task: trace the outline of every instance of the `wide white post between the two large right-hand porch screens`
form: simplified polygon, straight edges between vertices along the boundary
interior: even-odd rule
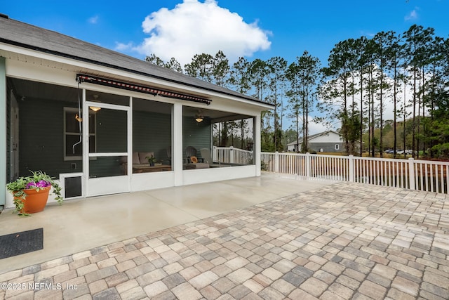
[[[182,178],[182,104],[175,103],[172,110],[172,166],[175,171],[175,186],[183,184]]]

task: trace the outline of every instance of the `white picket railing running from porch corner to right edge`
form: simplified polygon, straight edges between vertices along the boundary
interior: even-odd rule
[[[304,179],[352,181],[448,193],[448,162],[262,152],[261,164],[264,171]]]

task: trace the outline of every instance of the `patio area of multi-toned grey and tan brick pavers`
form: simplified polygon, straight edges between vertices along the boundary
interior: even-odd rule
[[[0,299],[449,299],[449,197],[336,183],[0,284]]]

